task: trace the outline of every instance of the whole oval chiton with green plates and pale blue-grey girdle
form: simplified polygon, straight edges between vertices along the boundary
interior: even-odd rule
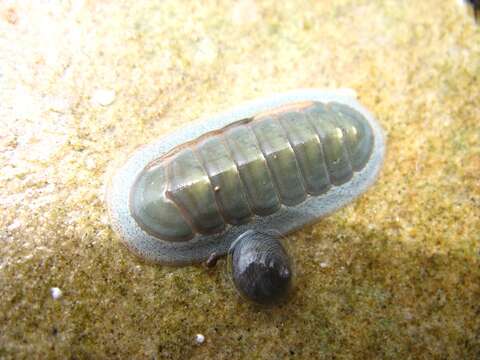
[[[205,261],[245,231],[287,234],[346,205],[375,181],[384,147],[346,92],[247,103],[134,153],[109,186],[112,225],[147,260]]]

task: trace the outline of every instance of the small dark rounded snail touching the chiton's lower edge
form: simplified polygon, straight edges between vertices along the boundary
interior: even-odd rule
[[[285,299],[293,279],[292,261],[273,232],[249,230],[229,251],[231,277],[239,293],[253,302],[271,305]]]

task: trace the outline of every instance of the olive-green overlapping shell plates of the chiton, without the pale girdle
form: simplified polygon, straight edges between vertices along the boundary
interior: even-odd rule
[[[372,149],[372,129],[351,107],[292,104],[172,149],[140,173],[130,210],[161,239],[220,233],[346,183]]]

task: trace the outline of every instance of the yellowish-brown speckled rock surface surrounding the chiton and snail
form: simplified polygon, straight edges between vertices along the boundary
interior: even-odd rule
[[[4,2],[0,15],[0,358],[480,357],[480,28],[456,1]],[[120,245],[103,202],[114,159],[300,87],[355,89],[388,154],[364,197],[289,237],[288,304],[243,302],[224,262],[152,266]]]

